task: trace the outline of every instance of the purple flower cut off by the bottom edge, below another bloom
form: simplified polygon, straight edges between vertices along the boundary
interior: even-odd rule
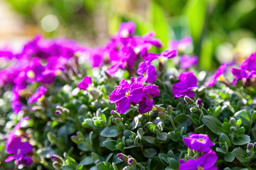
[[[180,170],[218,170],[217,166],[214,166],[214,163],[217,161],[217,154],[209,150],[208,152],[203,153],[202,156],[198,157],[197,160],[189,159],[187,162],[184,162],[180,165]]]

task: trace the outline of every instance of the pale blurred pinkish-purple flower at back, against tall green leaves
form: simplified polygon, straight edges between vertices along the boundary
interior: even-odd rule
[[[193,43],[193,39],[189,36],[184,37],[179,41],[171,41],[169,43],[169,47],[171,49],[178,49],[179,51],[184,51],[187,47],[189,47]]]

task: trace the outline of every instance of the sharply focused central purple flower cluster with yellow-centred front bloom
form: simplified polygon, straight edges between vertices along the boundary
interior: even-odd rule
[[[152,97],[158,96],[160,91],[156,85],[145,86],[137,81],[137,78],[131,77],[129,84],[122,79],[119,86],[109,95],[109,102],[116,103],[118,113],[124,113],[130,108],[130,104],[136,106],[139,103],[139,112],[146,113],[152,110]]]

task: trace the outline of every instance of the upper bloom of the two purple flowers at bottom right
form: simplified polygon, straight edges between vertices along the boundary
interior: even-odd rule
[[[184,143],[187,147],[201,152],[207,152],[215,143],[211,142],[207,134],[190,133],[189,137],[184,137]]]

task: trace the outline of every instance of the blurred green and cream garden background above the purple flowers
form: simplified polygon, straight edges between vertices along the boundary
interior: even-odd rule
[[[154,30],[164,48],[194,39],[199,67],[240,62],[256,51],[255,0],[0,0],[0,49],[19,51],[36,34],[103,46],[121,22]]]

